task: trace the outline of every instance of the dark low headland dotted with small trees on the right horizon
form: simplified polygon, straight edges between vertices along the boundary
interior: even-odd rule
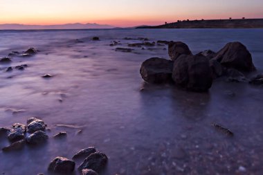
[[[140,26],[137,28],[263,28],[263,19],[183,20],[160,26]]]

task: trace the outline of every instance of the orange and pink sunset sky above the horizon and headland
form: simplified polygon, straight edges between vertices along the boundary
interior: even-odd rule
[[[0,24],[128,27],[183,19],[263,18],[263,0],[0,0]]]

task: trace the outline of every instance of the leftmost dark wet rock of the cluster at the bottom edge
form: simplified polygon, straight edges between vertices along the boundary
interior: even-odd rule
[[[70,174],[75,169],[75,162],[68,158],[56,157],[48,165],[48,170],[60,174]]]

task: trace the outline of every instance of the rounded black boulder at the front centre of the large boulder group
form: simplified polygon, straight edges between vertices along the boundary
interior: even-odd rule
[[[172,79],[190,91],[208,91],[212,86],[209,59],[201,54],[181,55],[174,61]]]

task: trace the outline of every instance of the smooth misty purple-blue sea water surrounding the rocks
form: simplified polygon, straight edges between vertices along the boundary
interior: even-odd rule
[[[91,41],[93,36],[100,41]],[[140,77],[140,64],[149,57],[168,58],[167,46],[133,53],[109,46],[114,40],[122,43],[118,47],[138,42],[124,37],[182,41],[193,53],[239,41],[263,71],[262,29],[0,31],[0,57],[31,46],[40,50],[35,57],[0,65],[28,64],[24,71],[1,69],[0,127],[38,116],[50,128],[42,146],[1,151],[1,174],[50,174],[53,158],[71,158],[90,146],[109,156],[101,174],[262,174],[262,88],[224,80],[215,80],[209,93],[150,86]],[[46,73],[54,77],[45,80]],[[235,136],[216,131],[212,123]],[[53,138],[60,131],[68,136]],[[4,136],[0,141],[1,148],[8,145]]]

